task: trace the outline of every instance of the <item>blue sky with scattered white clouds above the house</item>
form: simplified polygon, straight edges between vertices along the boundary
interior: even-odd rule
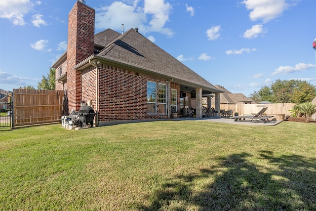
[[[76,0],[0,1],[0,88],[35,88],[67,48]],[[277,79],[316,85],[316,0],[85,0],[95,33],[139,33],[233,93]]]

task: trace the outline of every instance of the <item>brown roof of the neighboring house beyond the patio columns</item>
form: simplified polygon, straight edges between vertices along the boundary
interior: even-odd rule
[[[254,103],[252,99],[246,97],[242,93],[234,94],[221,85],[215,85],[215,87],[225,91],[224,93],[220,93],[220,103],[222,104],[236,104],[237,102]]]

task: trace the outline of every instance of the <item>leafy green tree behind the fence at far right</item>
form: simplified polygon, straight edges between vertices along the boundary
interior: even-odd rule
[[[315,96],[316,86],[301,80],[276,80],[270,86],[263,86],[259,91],[250,94],[250,98],[256,102],[297,104],[312,101]]]

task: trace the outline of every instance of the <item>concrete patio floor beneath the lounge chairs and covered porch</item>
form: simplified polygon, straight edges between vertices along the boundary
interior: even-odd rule
[[[173,121],[208,121],[208,122],[217,122],[217,123],[227,123],[227,124],[236,124],[236,125],[249,125],[249,126],[276,126],[282,121],[271,121],[269,123],[257,122],[256,120],[242,120],[235,122],[234,119],[229,118],[217,118],[217,117],[204,117],[204,118],[178,118],[171,119]]]

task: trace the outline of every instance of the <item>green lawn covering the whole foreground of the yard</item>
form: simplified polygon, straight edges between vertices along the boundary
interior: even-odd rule
[[[316,210],[316,125],[0,131],[0,210]]]

